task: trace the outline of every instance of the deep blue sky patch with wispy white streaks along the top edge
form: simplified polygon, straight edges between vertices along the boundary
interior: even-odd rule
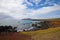
[[[43,7],[54,6],[55,4],[60,5],[59,0],[25,0],[24,4],[28,9],[39,9]]]

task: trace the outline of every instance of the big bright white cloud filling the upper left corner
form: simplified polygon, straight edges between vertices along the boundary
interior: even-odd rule
[[[23,0],[2,0],[0,1],[0,12],[4,12],[11,16],[20,16],[26,13],[25,6],[22,5]]]

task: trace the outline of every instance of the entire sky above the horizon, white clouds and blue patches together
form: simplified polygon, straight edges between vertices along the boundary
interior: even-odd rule
[[[60,18],[60,0],[0,0],[0,20],[11,17]]]

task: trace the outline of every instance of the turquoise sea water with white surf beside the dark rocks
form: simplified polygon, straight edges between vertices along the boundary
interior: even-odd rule
[[[32,24],[39,23],[40,21],[32,21],[32,20],[21,20],[19,22],[18,30],[24,30],[24,29],[33,29]]]

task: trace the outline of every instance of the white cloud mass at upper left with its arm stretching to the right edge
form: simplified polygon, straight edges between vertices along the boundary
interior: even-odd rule
[[[24,0],[0,0],[0,12],[4,12],[6,15],[10,15],[16,19],[22,18],[36,18],[38,14],[46,14],[51,11],[60,10],[59,5],[43,7],[38,10],[26,9],[25,5],[22,5]]]

